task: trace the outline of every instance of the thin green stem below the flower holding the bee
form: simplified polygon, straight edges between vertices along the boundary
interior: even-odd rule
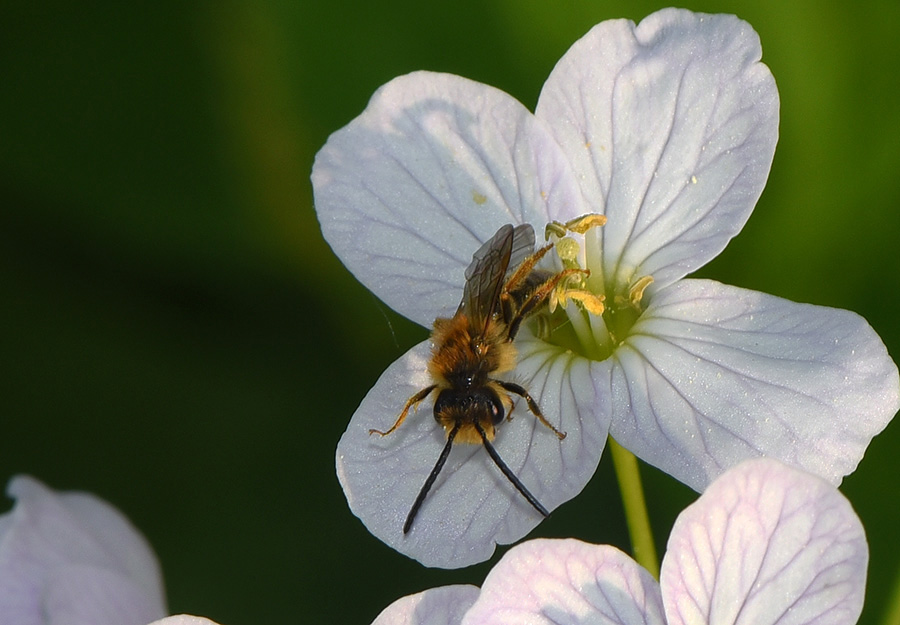
[[[659,559],[653,543],[653,532],[650,531],[650,517],[644,501],[644,487],[641,486],[637,458],[612,437],[609,438],[607,448],[612,453],[616,477],[619,479],[619,490],[622,492],[622,505],[625,508],[634,559],[650,571],[653,577],[659,579]]]

